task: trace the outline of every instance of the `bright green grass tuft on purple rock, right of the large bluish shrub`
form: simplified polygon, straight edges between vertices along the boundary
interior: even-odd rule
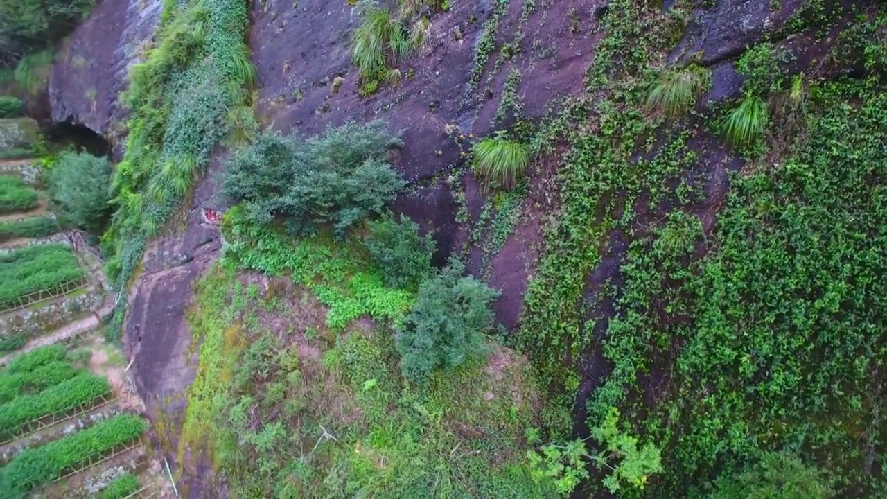
[[[514,187],[517,178],[527,170],[530,153],[520,142],[496,132],[471,147],[475,173],[506,189]]]

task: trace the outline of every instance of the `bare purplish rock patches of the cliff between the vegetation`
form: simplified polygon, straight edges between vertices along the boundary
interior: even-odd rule
[[[120,130],[115,123],[121,123],[125,112],[118,97],[127,86],[128,68],[149,43],[160,8],[156,0],[104,0],[98,5],[59,52],[50,87],[53,120],[72,120],[110,136]],[[853,60],[844,61],[843,67],[822,66],[822,54],[837,33],[819,42],[808,36],[804,22],[792,21],[807,15],[804,8],[800,0],[783,0],[778,9],[773,9],[770,0],[718,1],[699,8],[689,16],[686,32],[670,59],[692,59],[711,68],[708,104],[737,95],[742,77],[736,73],[736,59],[747,45],[764,39],[795,56],[789,62],[792,72],[809,67],[823,74],[854,71]],[[534,165],[534,189],[524,201],[523,217],[501,249],[484,256],[483,240],[471,235],[478,224],[487,223],[482,215],[483,189],[470,173],[448,178],[452,169],[463,166],[462,149],[453,135],[480,137],[496,130],[498,110],[506,97],[517,99],[523,116],[538,118],[550,104],[581,91],[585,68],[600,39],[595,16],[602,9],[606,9],[602,0],[539,2],[532,10],[523,10],[518,2],[453,2],[450,12],[432,19],[423,48],[400,66],[401,83],[365,98],[358,95],[357,69],[350,63],[349,33],[357,20],[347,3],[253,2],[249,42],[259,76],[257,111],[264,123],[305,136],[329,125],[376,118],[386,120],[392,130],[402,130],[405,147],[396,166],[411,183],[411,190],[396,202],[396,209],[425,229],[436,230],[441,248],[438,262],[471,243],[469,268],[502,289],[498,317],[514,328],[533,273],[544,218],[557,209],[558,190],[552,178],[560,165],[559,155],[546,155]],[[498,19],[495,27],[488,23],[494,16]],[[484,25],[494,33],[496,48],[478,60]],[[473,73],[478,76],[473,78]],[[334,91],[338,77],[343,83]],[[697,168],[687,175],[703,182],[707,193],[693,210],[710,230],[714,210],[726,194],[726,173],[741,168],[742,161],[714,137],[690,146],[701,154]],[[213,170],[219,172],[218,158],[214,165]],[[220,246],[216,226],[203,216],[205,208],[220,208],[212,201],[215,190],[213,175],[200,182],[184,231],[153,243],[144,272],[130,289],[125,343],[130,358],[135,358],[137,386],[153,421],[169,423],[159,433],[167,440],[165,448],[173,461],[177,456],[169,450],[177,448],[174,426],[184,407],[180,395],[192,380],[194,368],[185,309],[192,283],[216,258]],[[586,301],[593,301],[601,282],[609,279],[618,284],[618,266],[628,242],[620,234],[612,234],[610,242],[601,265],[588,276]],[[596,313],[589,320],[605,328],[612,310],[604,306]],[[600,352],[586,352],[582,364],[585,375],[576,417],[580,422],[585,421],[581,414],[585,396],[606,372]],[[203,470],[199,460],[186,456],[185,461],[180,463],[185,475],[190,475],[185,478],[196,479]],[[209,496],[199,490],[192,487],[193,494]]]

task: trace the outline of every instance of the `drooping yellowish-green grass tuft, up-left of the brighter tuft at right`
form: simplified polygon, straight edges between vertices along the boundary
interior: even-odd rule
[[[648,110],[677,118],[693,107],[699,95],[711,86],[711,71],[691,65],[680,70],[665,70],[650,89]]]

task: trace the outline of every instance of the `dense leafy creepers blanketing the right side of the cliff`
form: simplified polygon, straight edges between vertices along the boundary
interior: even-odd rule
[[[723,484],[788,479],[798,466],[820,468],[792,477],[821,480],[816,496],[877,494],[887,430],[878,401],[887,290],[875,277],[885,270],[883,14],[858,17],[835,49],[867,54],[864,79],[789,80],[781,55],[760,47],[742,58],[749,78],[727,104],[733,124],[717,113],[666,122],[678,113],[645,115],[645,82],[662,81],[681,6],[663,15],[610,4],[587,75],[593,99],[554,123],[571,145],[561,219],[546,233],[518,337],[552,390],[548,428],[566,436],[581,380],[600,376],[583,373],[582,360],[598,350],[608,368],[576,423],[595,428],[619,408],[624,430],[663,452],[663,472],[626,495],[750,490]],[[674,102],[687,112],[684,97]],[[771,103],[763,116],[737,111],[752,99]],[[586,119],[581,128],[595,133],[562,126]],[[697,123],[719,120],[710,129],[750,161],[704,234],[699,146],[689,145],[711,140]],[[621,266],[585,295],[614,234],[628,242]],[[758,463],[786,466],[785,476]]]

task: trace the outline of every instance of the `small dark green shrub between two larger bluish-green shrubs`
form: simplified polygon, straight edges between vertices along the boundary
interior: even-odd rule
[[[431,274],[431,257],[436,244],[419,234],[419,225],[409,218],[396,222],[390,215],[366,224],[364,246],[381,269],[385,284],[392,288],[417,289]]]

